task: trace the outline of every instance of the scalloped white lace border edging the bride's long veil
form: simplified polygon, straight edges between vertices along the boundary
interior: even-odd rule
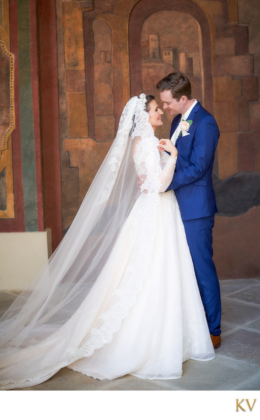
[[[92,328],[89,331],[90,338],[87,339],[81,347],[68,348],[66,350],[70,355],[67,360],[63,360],[54,366],[48,367],[47,369],[26,378],[1,381],[3,386],[0,389],[2,390],[16,388],[18,383],[21,384],[27,381],[39,381],[41,378],[44,378],[54,371],[60,370],[62,367],[71,365],[73,362],[82,357],[90,357],[96,349],[100,349],[105,344],[110,343],[113,339],[113,335],[120,329],[123,319],[128,316],[130,308],[136,302],[137,294],[142,290],[143,282],[147,277],[148,267],[151,262],[152,249],[154,247],[154,236],[158,214],[157,206],[160,201],[160,182],[158,181],[157,176],[158,173],[160,173],[161,166],[160,154],[156,144],[158,139],[154,135],[152,126],[148,123],[149,115],[146,111],[144,111],[140,100],[137,101],[137,103],[136,101],[133,101],[131,106],[133,108],[132,112],[134,112],[135,109],[135,114],[139,117],[137,118],[137,124],[132,133],[132,137],[145,135],[144,150],[146,150],[147,153],[147,147],[149,147],[149,154],[153,155],[153,161],[151,163],[152,168],[150,168],[150,172],[148,168],[147,179],[145,182],[145,189],[148,189],[147,212],[144,213],[143,224],[140,228],[139,244],[137,244],[138,258],[134,267],[128,267],[129,271],[131,271],[131,277],[127,281],[126,286],[121,289],[114,290],[113,295],[118,299],[116,299],[116,302],[110,304],[110,308],[105,313],[100,315],[100,326]],[[128,115],[131,115],[132,112],[129,112]],[[132,118],[128,118],[128,121],[126,121],[125,118],[128,117],[126,117],[123,113],[121,119],[123,119],[126,123],[122,124],[122,131],[118,131],[118,135],[116,137],[117,140],[121,139],[122,142],[127,142],[128,133],[132,127]],[[122,145],[119,141],[118,146],[114,149],[113,155],[109,161],[114,176],[110,181],[109,188],[104,192],[104,199],[108,198],[113,189],[118,168],[120,167],[123,158],[124,148],[125,145]]]

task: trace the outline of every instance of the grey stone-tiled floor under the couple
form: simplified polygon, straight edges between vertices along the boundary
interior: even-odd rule
[[[221,347],[210,362],[185,362],[182,378],[149,381],[126,375],[113,381],[99,381],[65,367],[48,381],[20,390],[259,390],[260,279],[222,280],[220,286]],[[19,291],[0,293],[0,315],[18,294]]]

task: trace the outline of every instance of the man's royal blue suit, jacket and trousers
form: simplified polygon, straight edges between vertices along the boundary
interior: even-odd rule
[[[180,120],[181,114],[173,119],[170,138]],[[212,228],[218,209],[211,176],[219,131],[213,116],[199,102],[187,120],[192,120],[189,135],[176,140],[178,158],[167,191],[173,189],[176,194],[209,330],[218,336],[221,300],[212,260]]]

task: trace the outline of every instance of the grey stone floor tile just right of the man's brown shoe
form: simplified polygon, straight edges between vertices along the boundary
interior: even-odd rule
[[[222,337],[218,352],[222,356],[255,363],[260,370],[260,333],[239,328]]]

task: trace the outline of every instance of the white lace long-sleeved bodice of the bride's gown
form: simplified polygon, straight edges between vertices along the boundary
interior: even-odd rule
[[[145,178],[141,192],[165,192],[173,178],[177,157],[165,153],[161,161],[157,140],[156,137],[137,137],[134,142],[133,158],[137,175]]]

